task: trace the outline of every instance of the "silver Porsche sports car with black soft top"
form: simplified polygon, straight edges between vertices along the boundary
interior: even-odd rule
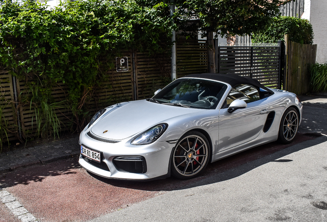
[[[80,135],[79,164],[106,178],[193,178],[209,162],[292,142],[301,116],[301,102],[288,91],[237,75],[189,75],[151,99],[96,113]]]

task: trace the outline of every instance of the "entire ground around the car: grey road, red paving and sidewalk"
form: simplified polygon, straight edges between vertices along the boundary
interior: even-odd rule
[[[78,168],[77,136],[3,153],[0,221],[327,221],[327,97],[300,100],[297,144],[277,152],[266,144],[189,181],[101,180]],[[242,162],[244,155],[255,158]]]

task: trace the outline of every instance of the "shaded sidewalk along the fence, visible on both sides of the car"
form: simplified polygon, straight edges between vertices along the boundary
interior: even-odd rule
[[[300,96],[299,99],[304,105],[299,133],[327,135],[327,94]],[[70,139],[4,152],[0,154],[0,174],[79,155],[78,140],[79,135],[76,135]]]

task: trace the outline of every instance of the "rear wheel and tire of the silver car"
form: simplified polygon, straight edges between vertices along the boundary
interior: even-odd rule
[[[299,114],[294,107],[286,109],[280,121],[278,141],[288,144],[294,140],[299,128]]]

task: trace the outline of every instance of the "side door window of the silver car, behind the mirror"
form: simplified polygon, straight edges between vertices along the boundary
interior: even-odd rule
[[[244,100],[246,103],[250,103],[259,100],[260,94],[258,89],[254,86],[247,84],[236,85],[230,91],[224,104],[224,108],[227,108],[232,101],[237,99]]]

